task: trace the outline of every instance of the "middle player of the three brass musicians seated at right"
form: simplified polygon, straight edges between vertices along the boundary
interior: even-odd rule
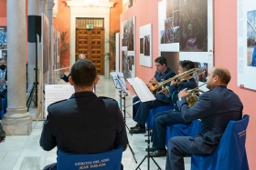
[[[195,68],[193,62],[184,60],[179,62],[179,75],[185,73],[186,71]],[[197,87],[197,82],[192,74],[187,74],[182,76],[183,81],[180,84],[177,84],[177,81],[172,81],[171,85],[168,87],[168,91],[165,90],[163,93],[168,97],[172,98],[174,104],[174,110],[165,111],[163,113],[158,113],[155,115],[154,119],[154,127],[153,127],[153,134],[152,134],[152,142],[153,146],[150,147],[150,155],[154,157],[165,156],[166,149],[165,149],[165,138],[166,138],[166,128],[169,125],[176,125],[176,124],[185,124],[190,125],[191,122],[186,122],[180,115],[179,110],[176,107],[176,100],[178,99],[177,94],[183,89],[193,89]],[[146,149],[147,150],[147,149]]]

